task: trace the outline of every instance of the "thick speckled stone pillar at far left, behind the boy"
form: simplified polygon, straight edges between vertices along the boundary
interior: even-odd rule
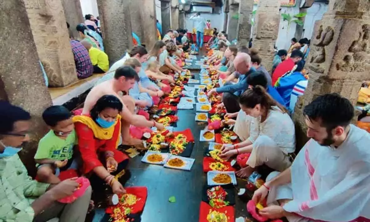
[[[1,1],[0,10],[0,91],[1,97],[18,105],[33,117],[31,142],[23,147],[20,157],[30,175],[36,175],[33,156],[38,140],[47,127],[42,112],[52,105],[38,62],[36,45],[23,0]]]

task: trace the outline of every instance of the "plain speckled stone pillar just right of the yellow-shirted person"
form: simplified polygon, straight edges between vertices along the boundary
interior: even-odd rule
[[[98,0],[104,49],[110,64],[132,48],[132,29],[127,0]]]

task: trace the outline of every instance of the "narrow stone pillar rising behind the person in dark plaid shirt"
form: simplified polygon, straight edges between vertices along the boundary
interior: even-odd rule
[[[80,37],[76,26],[84,23],[84,16],[82,15],[80,0],[63,0],[63,9],[65,20],[70,24],[70,30],[74,38]]]

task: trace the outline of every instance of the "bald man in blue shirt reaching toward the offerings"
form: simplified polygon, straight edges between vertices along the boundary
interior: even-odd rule
[[[238,83],[226,83],[223,87],[213,88],[208,92],[208,96],[223,92],[222,101],[228,113],[234,113],[240,110],[238,98],[248,89],[247,76],[256,71],[256,69],[252,67],[250,56],[246,53],[238,53],[233,63],[235,71],[240,73]]]

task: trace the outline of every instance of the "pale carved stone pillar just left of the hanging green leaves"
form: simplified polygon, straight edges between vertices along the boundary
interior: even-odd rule
[[[274,44],[279,33],[280,0],[259,1],[253,31],[253,48],[259,51],[262,64],[270,72]]]

